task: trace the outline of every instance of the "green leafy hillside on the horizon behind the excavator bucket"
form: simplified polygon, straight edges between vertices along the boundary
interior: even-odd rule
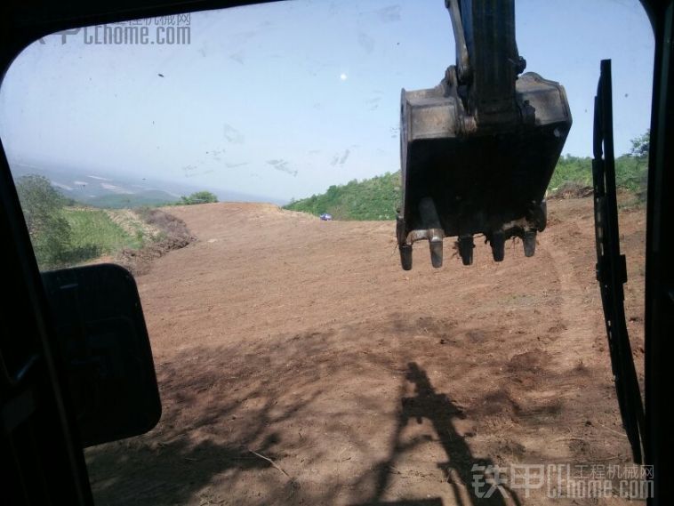
[[[644,197],[647,160],[623,155],[615,159],[618,187]],[[567,155],[559,159],[548,188],[550,195],[568,186],[592,186],[592,159]],[[325,193],[293,201],[285,209],[319,215],[331,213],[335,220],[392,220],[400,205],[400,173],[385,173],[363,181],[331,186]]]

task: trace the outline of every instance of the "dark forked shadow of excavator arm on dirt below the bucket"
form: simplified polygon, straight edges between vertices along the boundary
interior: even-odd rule
[[[440,445],[447,456],[447,462],[439,462],[449,486],[452,487],[454,503],[459,506],[520,506],[518,495],[507,486],[491,486],[478,472],[493,469],[491,459],[475,457],[466,442],[455,428],[455,421],[464,418],[461,408],[456,406],[445,394],[437,393],[430,383],[428,374],[416,363],[407,365],[405,380],[412,383],[413,397],[402,398],[402,409],[398,415],[397,427],[392,439],[389,457],[379,462],[374,469],[374,491],[370,501],[359,502],[352,506],[440,506],[445,504],[442,498],[383,500],[389,488],[391,469],[398,457],[410,448],[402,441],[402,432],[411,421],[421,423],[428,420],[437,433]],[[490,478],[490,477],[487,477]],[[482,479],[481,486],[474,486],[476,479]],[[488,479],[486,481],[489,481]],[[493,482],[492,482],[493,483]],[[499,484],[497,484],[499,485]]]

